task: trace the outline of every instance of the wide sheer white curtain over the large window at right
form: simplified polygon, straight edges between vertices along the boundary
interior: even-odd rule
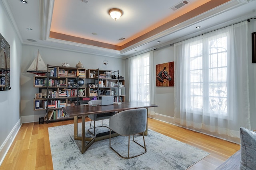
[[[174,45],[174,121],[239,143],[250,128],[247,21]]]

